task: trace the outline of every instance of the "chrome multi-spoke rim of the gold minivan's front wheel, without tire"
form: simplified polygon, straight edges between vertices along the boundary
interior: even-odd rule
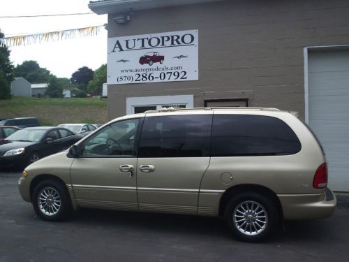
[[[44,187],[38,194],[38,207],[43,214],[53,216],[61,209],[61,196],[52,187]]]

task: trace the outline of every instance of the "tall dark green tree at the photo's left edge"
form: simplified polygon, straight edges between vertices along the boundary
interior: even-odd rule
[[[0,38],[3,38],[0,31]],[[0,46],[0,99],[10,99],[10,82],[13,80],[13,65],[10,62],[10,51],[6,46]]]

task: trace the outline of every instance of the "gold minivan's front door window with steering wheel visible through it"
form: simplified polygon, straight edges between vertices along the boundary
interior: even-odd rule
[[[135,137],[140,119],[126,119],[105,126],[84,141],[81,157],[135,157]]]

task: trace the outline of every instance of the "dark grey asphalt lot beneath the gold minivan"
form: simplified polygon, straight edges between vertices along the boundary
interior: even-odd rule
[[[238,242],[210,217],[80,210],[68,221],[36,217],[0,172],[0,261],[348,261],[349,197],[334,216],[285,224],[271,240]]]

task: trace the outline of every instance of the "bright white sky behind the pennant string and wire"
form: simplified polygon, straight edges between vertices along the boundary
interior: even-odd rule
[[[0,0],[0,29],[6,36],[47,33],[67,29],[98,26],[107,23],[107,15],[71,15],[57,17],[1,18],[19,15],[56,15],[90,13],[89,0]],[[42,42],[11,47],[13,65],[26,60],[38,61],[59,78],[70,78],[82,66],[93,70],[107,63],[107,31],[97,36],[57,42]]]

